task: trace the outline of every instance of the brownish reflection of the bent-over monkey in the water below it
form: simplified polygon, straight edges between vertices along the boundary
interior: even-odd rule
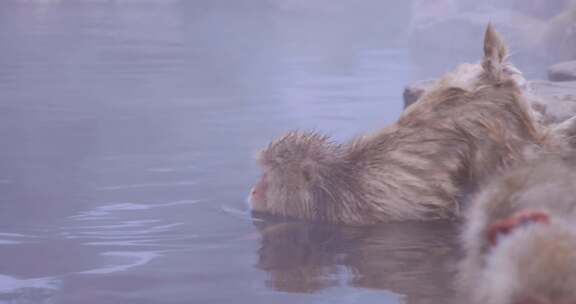
[[[452,293],[455,223],[254,224],[261,234],[257,267],[276,290],[312,293],[350,285],[404,294],[407,303],[446,303]]]

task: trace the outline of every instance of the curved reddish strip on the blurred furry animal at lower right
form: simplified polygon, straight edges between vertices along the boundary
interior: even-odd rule
[[[548,224],[548,212],[536,209],[526,209],[503,220],[496,221],[488,228],[487,238],[490,244],[496,245],[498,238],[510,234],[515,229],[529,224]]]

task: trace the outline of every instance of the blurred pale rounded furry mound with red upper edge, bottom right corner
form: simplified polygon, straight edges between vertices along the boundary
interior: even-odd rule
[[[576,303],[573,224],[524,210],[491,225],[487,236],[493,247],[481,269],[478,303]]]

